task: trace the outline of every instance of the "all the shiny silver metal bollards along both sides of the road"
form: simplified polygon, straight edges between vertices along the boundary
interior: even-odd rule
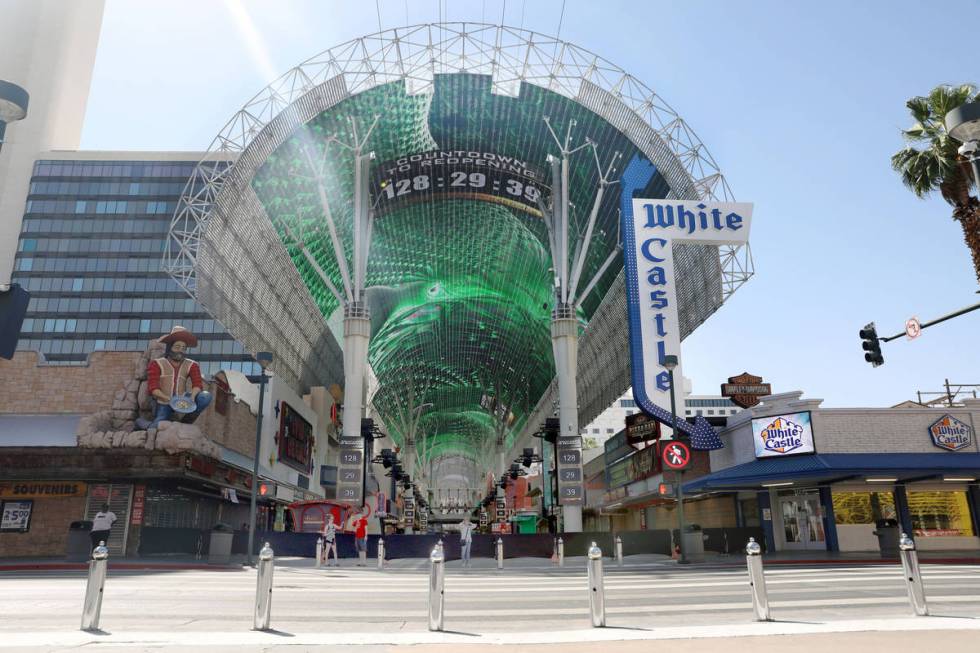
[[[558,564],[564,564],[564,542],[558,538]],[[497,569],[504,568],[504,542],[497,538]],[[925,590],[922,586],[922,573],[919,569],[919,559],[915,551],[915,543],[902,533],[899,541],[902,559],[902,569],[905,575],[909,602],[916,615],[926,616],[929,608],[926,605]],[[317,567],[320,566],[322,541],[317,540]],[[749,572],[749,587],[752,593],[752,612],[756,621],[772,621],[769,611],[769,597],[766,593],[766,578],[762,567],[762,547],[755,538],[750,537],[745,546],[745,561]],[[109,550],[105,542],[92,552],[89,561],[88,582],[85,588],[85,603],[82,607],[82,630],[98,631],[99,617],[102,612],[102,596],[105,589],[106,566]],[[622,565],[622,540],[616,538],[616,560]],[[440,541],[432,549],[429,556],[429,630],[441,631],[444,623],[445,608],[445,561],[446,554]],[[384,540],[378,541],[378,569],[384,569],[385,548]],[[266,542],[259,551],[258,574],[255,588],[255,630],[269,630],[272,620],[272,573],[275,559],[272,547]],[[602,576],[602,550],[593,542],[588,550],[588,580],[589,580],[589,614],[594,628],[606,625],[606,600]]]

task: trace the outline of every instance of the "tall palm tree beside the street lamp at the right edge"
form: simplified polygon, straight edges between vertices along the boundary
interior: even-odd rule
[[[946,133],[943,122],[949,111],[977,101],[980,101],[980,94],[977,94],[976,86],[962,84],[937,86],[929,95],[906,102],[915,124],[902,130],[909,144],[892,156],[892,168],[917,197],[938,190],[953,207],[953,219],[963,226],[963,238],[970,248],[974,271],[980,282],[980,201],[970,196],[970,189],[977,181],[969,161],[956,151],[959,141]]]

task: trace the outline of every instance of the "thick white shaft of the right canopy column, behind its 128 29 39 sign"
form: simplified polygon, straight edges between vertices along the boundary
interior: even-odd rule
[[[560,436],[578,435],[578,321],[574,307],[559,306],[551,321],[551,344],[555,354],[555,370],[558,375],[558,418],[561,421]],[[559,497],[559,501],[560,501]],[[582,506],[562,506],[562,519],[566,533],[582,532]]]

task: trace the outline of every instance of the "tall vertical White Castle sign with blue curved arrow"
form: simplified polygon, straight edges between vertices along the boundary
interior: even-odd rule
[[[627,165],[621,179],[623,254],[630,325],[630,362],[633,397],[637,405],[669,427],[670,374],[665,357],[680,358],[681,325],[677,311],[677,279],[673,246],[743,245],[749,239],[752,205],[698,200],[634,199],[646,187],[656,168],[639,155]],[[682,368],[673,370],[682,379]],[[676,392],[677,411],[684,414],[683,393]],[[695,449],[719,449],[717,433],[703,417],[678,430]],[[674,436],[676,437],[676,436]]]

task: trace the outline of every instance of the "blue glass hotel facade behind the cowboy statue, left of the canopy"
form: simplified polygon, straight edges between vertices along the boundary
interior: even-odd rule
[[[201,371],[257,374],[220,324],[161,269],[170,219],[195,161],[38,161],[13,280],[31,293],[19,349],[49,364],[142,351],[180,324]]]

